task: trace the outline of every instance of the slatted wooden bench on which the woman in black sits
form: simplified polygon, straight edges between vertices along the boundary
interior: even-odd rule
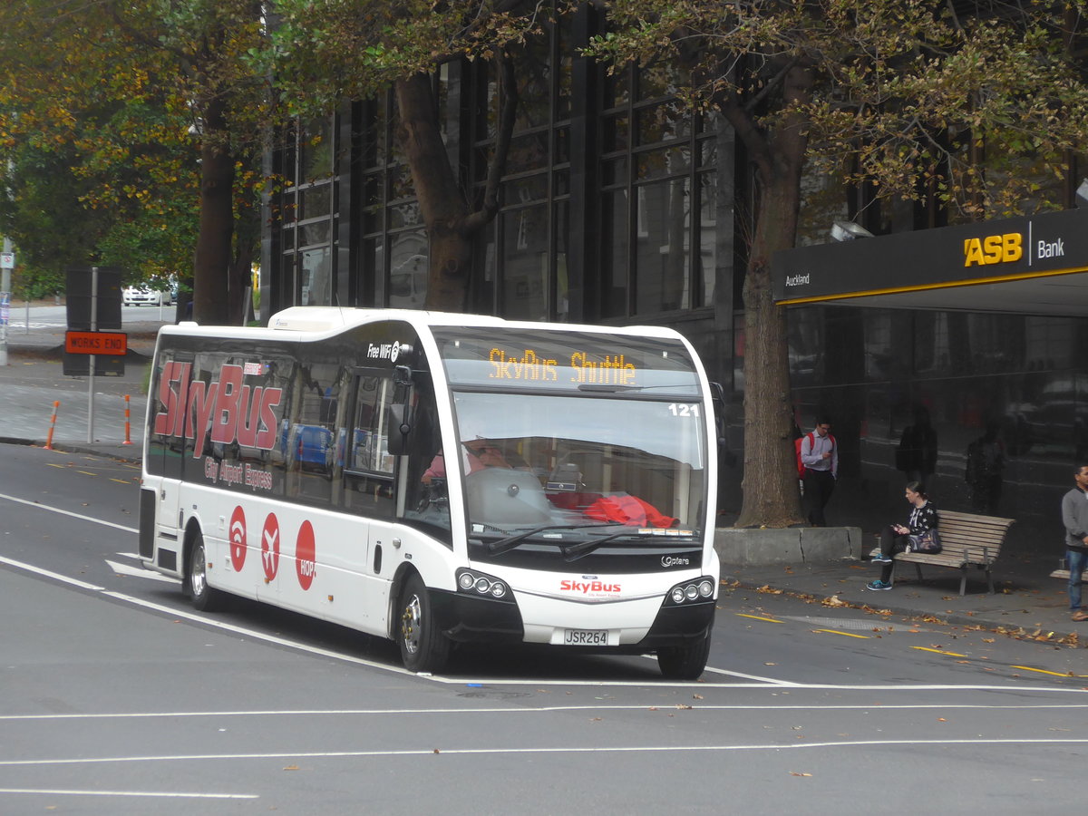
[[[892,562],[891,583],[895,583],[895,564],[910,562],[918,571],[922,580],[922,565],[934,567],[950,567],[960,570],[960,594],[967,589],[967,569],[976,567],[986,571],[986,583],[992,595],[993,562],[1001,555],[1001,545],[1009,534],[1009,528],[1015,519],[1001,519],[997,516],[976,516],[972,512],[954,512],[952,510],[937,511],[937,532],[941,539],[941,552],[932,553],[899,553]]]

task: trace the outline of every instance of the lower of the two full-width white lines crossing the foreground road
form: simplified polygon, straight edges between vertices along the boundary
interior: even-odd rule
[[[512,754],[638,754],[638,753],[693,753],[693,752],[726,752],[726,751],[811,751],[813,749],[844,747],[889,747],[893,745],[1083,745],[1088,738],[1040,738],[1040,739],[973,739],[973,740],[842,740],[841,742],[770,742],[734,745],[598,745],[598,746],[561,746],[561,747],[483,747],[456,749],[441,745],[428,749],[405,749],[399,751],[275,751],[252,754],[159,754],[148,756],[99,756],[74,757],[70,759],[0,759],[0,767],[41,766],[41,765],[106,765],[120,763],[159,763],[159,762],[223,762],[224,759],[335,759],[343,757],[374,756],[431,756],[431,755],[512,755]]]

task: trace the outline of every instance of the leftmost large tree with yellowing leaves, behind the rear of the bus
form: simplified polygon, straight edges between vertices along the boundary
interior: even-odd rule
[[[188,244],[174,271],[191,270],[194,317],[207,323],[240,319],[258,246],[260,139],[273,115],[250,59],[261,12],[254,0],[0,8],[0,146],[71,151],[72,173],[94,182],[81,201],[118,215],[92,255],[147,250],[173,265]]]

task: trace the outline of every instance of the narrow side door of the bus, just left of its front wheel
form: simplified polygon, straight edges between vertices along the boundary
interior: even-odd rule
[[[388,449],[390,409],[396,391],[394,372],[357,369],[345,429],[343,507],[359,519],[348,545],[350,569],[360,578],[360,613],[379,626],[397,566],[393,542],[396,458]]]

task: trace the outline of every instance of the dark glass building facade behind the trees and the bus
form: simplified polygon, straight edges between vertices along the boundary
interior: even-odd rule
[[[598,30],[586,4],[519,53],[520,89],[496,217],[479,235],[468,309],[511,319],[672,326],[732,394],[729,445],[742,440],[744,157],[719,116],[677,98],[675,65],[608,75],[577,49]],[[442,135],[469,200],[487,178],[503,86],[493,64],[433,76]],[[267,171],[262,311],[292,305],[422,308],[430,248],[391,92],[299,124]],[[1061,191],[1055,191],[1061,196]],[[828,240],[866,202],[805,180],[799,244]],[[939,212],[865,207],[874,232],[947,223]],[[939,504],[969,510],[966,449],[996,429],[1004,455],[999,515],[1051,517],[1088,457],[1088,321],[1075,318],[793,307],[796,419],[830,411],[843,487],[901,515],[897,447],[918,418],[936,432]],[[721,471],[721,507],[740,506],[741,466]]]

